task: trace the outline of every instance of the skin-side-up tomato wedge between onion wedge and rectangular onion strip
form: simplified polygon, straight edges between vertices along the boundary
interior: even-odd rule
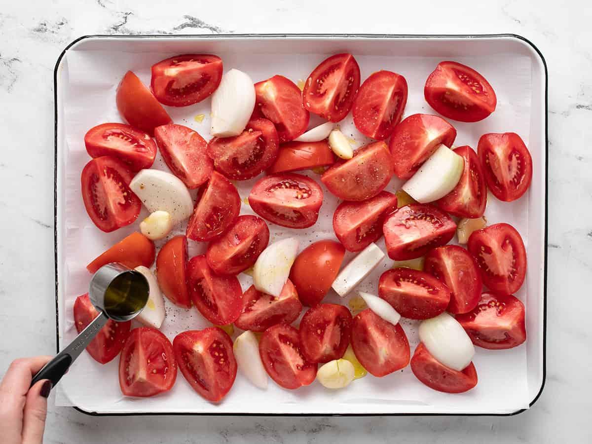
[[[306,247],[294,260],[290,280],[304,305],[314,307],[323,300],[345,256],[345,248],[334,240],[319,240]]]

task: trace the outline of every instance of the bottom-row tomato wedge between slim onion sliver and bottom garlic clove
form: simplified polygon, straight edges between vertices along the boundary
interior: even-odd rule
[[[295,389],[309,385],[317,376],[317,365],[301,352],[298,330],[276,324],[261,336],[259,355],[268,375],[281,387]]]

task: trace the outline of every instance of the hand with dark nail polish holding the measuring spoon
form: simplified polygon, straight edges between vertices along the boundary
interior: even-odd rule
[[[2,444],[43,442],[47,397],[52,382],[43,379],[31,385],[33,376],[52,356],[35,356],[12,361],[0,382],[0,436]]]

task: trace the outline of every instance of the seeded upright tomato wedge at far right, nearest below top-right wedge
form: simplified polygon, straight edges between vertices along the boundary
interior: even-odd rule
[[[477,153],[495,197],[512,202],[525,194],[532,181],[532,157],[518,134],[483,134]]]

